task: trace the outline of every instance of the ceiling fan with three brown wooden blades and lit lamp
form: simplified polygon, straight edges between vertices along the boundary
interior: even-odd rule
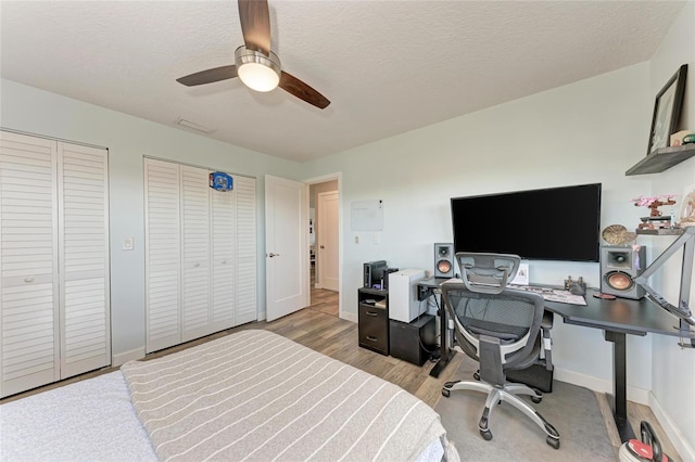
[[[176,81],[187,87],[239,77],[255,91],[280,87],[296,98],[325,108],[330,101],[280,67],[280,59],[270,51],[270,14],[267,0],[238,0],[244,44],[235,51],[235,64],[201,70]]]

